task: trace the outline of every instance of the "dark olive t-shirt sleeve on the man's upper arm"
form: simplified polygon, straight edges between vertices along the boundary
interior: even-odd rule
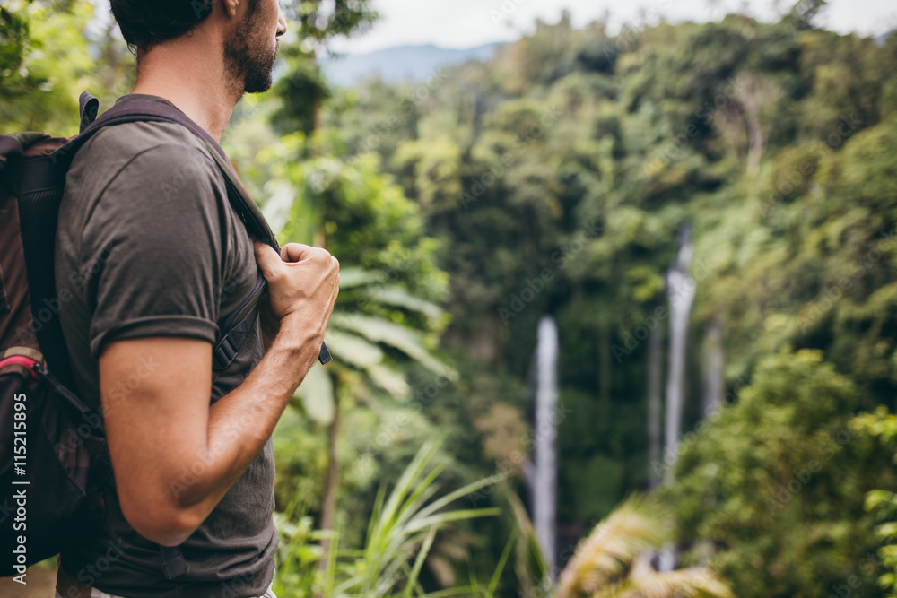
[[[95,358],[126,339],[214,342],[226,204],[215,168],[198,148],[159,145],[138,153],[100,194],[81,251]]]

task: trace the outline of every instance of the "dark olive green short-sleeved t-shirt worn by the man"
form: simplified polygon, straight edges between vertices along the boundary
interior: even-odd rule
[[[145,95],[118,101],[135,99],[165,101]],[[218,323],[257,280],[252,242],[213,157],[187,128],[158,122],[109,126],[75,156],[59,212],[55,267],[77,389],[93,407],[100,405],[98,360],[109,342],[178,336],[214,343]],[[215,380],[210,404],[239,386],[262,352],[256,325]],[[126,383],[104,389],[104,408],[115,409],[152,376],[165,373],[152,362],[139,364]],[[187,487],[203,466],[197,459],[196,471],[185,469],[171,481],[172,491]],[[162,572],[159,546],[122,516],[114,478],[104,500],[100,527],[62,553],[62,568],[88,585],[126,598],[245,598],[265,594],[271,583],[277,531],[270,439],[181,545],[188,571],[174,580]]]

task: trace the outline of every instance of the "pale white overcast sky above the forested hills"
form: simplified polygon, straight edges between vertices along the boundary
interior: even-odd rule
[[[390,46],[436,44],[443,48],[471,48],[492,41],[518,39],[532,30],[536,18],[556,22],[563,8],[577,26],[609,16],[610,30],[624,22],[655,24],[654,15],[669,21],[714,21],[744,7],[762,20],[773,20],[793,0],[374,0],[382,18],[369,32],[334,45],[356,54]],[[897,29],[895,0],[830,0],[818,23],[827,29],[880,35]],[[653,11],[653,12],[652,12]],[[647,14],[646,19],[642,14]]]

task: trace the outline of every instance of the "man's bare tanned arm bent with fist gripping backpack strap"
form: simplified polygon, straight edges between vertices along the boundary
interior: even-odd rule
[[[322,249],[295,244],[283,247],[282,256],[257,245],[257,260],[279,331],[246,380],[211,407],[209,342],[132,339],[111,342],[100,355],[119,503],[128,523],[152,542],[177,545],[202,524],[271,436],[318,357],[339,264]],[[126,384],[142,363],[155,367],[134,392],[107,391]]]

